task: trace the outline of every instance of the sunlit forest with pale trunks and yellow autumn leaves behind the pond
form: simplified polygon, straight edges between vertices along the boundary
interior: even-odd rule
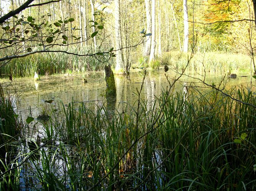
[[[23,44],[16,44],[15,50],[12,50],[9,55],[45,50],[48,46],[51,50],[62,48],[61,50],[79,55],[98,53],[97,55],[102,56],[99,52],[109,52],[113,47],[114,50],[121,49],[115,52],[116,68],[122,68],[123,73],[129,73],[131,65],[142,66],[147,63],[148,58],[159,60],[160,63],[157,63],[157,66],[165,65],[165,61],[173,57],[169,55],[165,58],[170,52],[191,52],[192,47],[193,52],[200,53],[251,55],[255,41],[253,3],[250,0],[62,0],[53,3],[46,2],[48,1],[34,1],[33,4],[43,5],[30,6],[21,11],[16,16],[17,18],[11,18],[8,24],[2,25],[1,43],[5,51],[10,44],[12,49],[15,47],[12,44],[13,40],[17,41],[22,37],[25,39],[20,40]],[[1,16],[3,16],[8,11],[21,6],[24,1],[1,0],[0,3]],[[18,19],[22,19],[22,22],[18,23]],[[20,24],[18,30],[17,23]],[[44,27],[41,27],[42,23]],[[28,24],[30,24],[30,29]],[[35,28],[34,24],[40,26],[40,29],[33,31],[31,26]],[[6,28],[7,25],[10,25],[9,31]],[[12,35],[10,35],[11,29]],[[50,39],[47,39],[49,36]],[[55,46],[45,45],[43,41],[45,44]],[[124,49],[126,47],[130,48]],[[36,55],[33,59],[38,59],[38,57],[42,59],[43,56]],[[55,59],[58,63],[53,71],[44,69],[41,73],[66,72],[67,67],[59,68],[63,65],[62,62],[67,61],[67,57],[72,57],[72,55],[58,55],[58,57],[59,59]],[[99,70],[106,65],[104,63],[106,60],[115,64],[113,59],[109,61],[102,57],[84,59],[77,57],[72,59],[73,61],[68,59],[69,70],[72,68],[80,71]],[[34,63],[37,61],[35,60]],[[25,65],[25,61],[19,62]],[[87,64],[81,64],[82,62]],[[154,67],[154,64],[152,66]],[[33,70],[41,69],[38,66]],[[12,71],[5,70],[2,74],[8,72]],[[31,73],[33,73],[32,69]],[[29,74],[20,74],[20,76],[26,75]]]

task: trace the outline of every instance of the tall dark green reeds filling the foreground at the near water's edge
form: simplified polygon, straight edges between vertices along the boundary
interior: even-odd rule
[[[246,87],[229,94],[256,105]],[[44,129],[41,141],[33,141],[36,149],[28,149],[28,137],[21,133],[16,158],[1,170],[1,188],[256,188],[255,107],[195,87],[188,94],[163,92],[147,105],[140,100],[120,112],[109,111],[106,104],[60,102],[49,121],[36,122]],[[23,131],[31,124],[27,121]],[[4,187],[11,175],[15,181]]]

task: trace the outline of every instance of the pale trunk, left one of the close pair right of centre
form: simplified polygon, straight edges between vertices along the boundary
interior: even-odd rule
[[[145,8],[146,8],[146,19],[147,19],[147,33],[151,33],[152,31],[152,19],[151,19],[151,10],[150,10],[150,0],[145,0]],[[144,55],[149,56],[150,55],[150,45],[151,45],[151,36],[145,37],[145,49],[144,49]]]

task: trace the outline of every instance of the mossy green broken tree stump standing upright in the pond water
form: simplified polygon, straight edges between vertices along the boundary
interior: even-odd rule
[[[114,73],[111,70],[110,65],[105,66],[105,80],[107,84],[106,97],[116,96],[116,83]]]

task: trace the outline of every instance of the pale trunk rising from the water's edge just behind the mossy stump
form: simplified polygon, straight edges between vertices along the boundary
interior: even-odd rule
[[[116,68],[120,71],[123,65],[122,35],[121,35],[120,0],[115,0],[115,34],[116,34]]]

